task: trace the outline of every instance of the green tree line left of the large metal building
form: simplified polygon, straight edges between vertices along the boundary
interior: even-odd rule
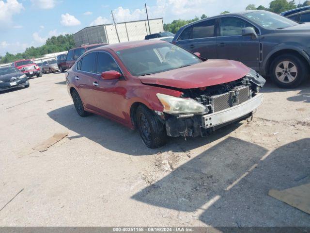
[[[46,43],[40,47],[29,47],[22,53],[12,54],[7,52],[4,56],[0,56],[0,64],[11,63],[16,60],[33,59],[42,57],[48,53],[61,52],[70,50],[75,46],[73,34],[65,34],[52,36],[47,39]]]

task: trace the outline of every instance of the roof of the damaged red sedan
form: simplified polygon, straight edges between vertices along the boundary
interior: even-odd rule
[[[159,44],[159,43],[168,43],[166,41],[162,40],[137,40],[137,41],[129,41],[129,42],[121,42],[116,44],[110,44],[106,45],[104,47],[98,47],[95,50],[105,50],[110,49],[113,51],[119,51],[119,50],[125,50],[125,49],[131,49],[146,45],[153,45],[153,44]]]

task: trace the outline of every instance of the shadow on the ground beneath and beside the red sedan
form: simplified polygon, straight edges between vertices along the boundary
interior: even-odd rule
[[[231,133],[241,125],[240,123],[231,124],[205,138],[187,138],[186,141],[183,137],[170,138],[166,146],[158,149],[149,149],[142,144],[142,140],[137,131],[130,130],[118,123],[97,115],[80,117],[74,105],[68,105],[53,110],[47,113],[47,115],[69,130],[79,134],[79,136],[73,136],[72,139],[86,137],[109,150],[130,155],[148,155],[169,150],[174,152],[191,150],[215,141]]]

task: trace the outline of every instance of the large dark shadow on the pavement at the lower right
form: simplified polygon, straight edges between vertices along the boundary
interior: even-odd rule
[[[310,226],[308,214],[267,195],[272,188],[282,190],[310,182],[310,138],[284,145],[261,161],[266,152],[263,147],[229,137],[132,199],[192,212],[190,217],[197,216],[214,227]],[[255,164],[257,168],[248,176],[233,183]]]

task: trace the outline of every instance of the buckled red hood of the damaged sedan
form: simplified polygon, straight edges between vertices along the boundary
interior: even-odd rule
[[[141,76],[145,84],[158,84],[181,89],[199,88],[240,79],[250,69],[241,62],[231,60],[207,60],[189,67]]]

